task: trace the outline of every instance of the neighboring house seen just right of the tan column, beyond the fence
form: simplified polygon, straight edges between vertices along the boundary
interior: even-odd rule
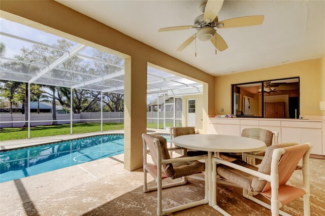
[[[159,104],[157,103],[157,99],[159,101]],[[176,98],[176,111],[182,111],[182,98]],[[159,98],[154,99],[150,103],[147,104],[147,111],[148,112],[154,112],[155,109],[157,109],[157,105],[159,105],[159,111],[164,111],[164,96],[160,96]],[[174,111],[173,110],[174,105],[174,97],[165,97],[165,106],[166,111]]]

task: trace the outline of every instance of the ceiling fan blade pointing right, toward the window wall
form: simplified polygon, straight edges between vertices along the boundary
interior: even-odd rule
[[[226,19],[217,23],[217,28],[235,28],[251,25],[261,25],[264,21],[264,15],[237,17],[233,19]],[[218,26],[218,24],[223,24]]]

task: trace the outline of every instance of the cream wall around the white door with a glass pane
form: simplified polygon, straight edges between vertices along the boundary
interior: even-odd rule
[[[199,133],[204,133],[203,129],[203,95],[202,94],[196,94],[196,95],[186,95],[182,96],[182,127],[187,126],[187,99],[194,98],[195,99],[195,127],[198,129]]]

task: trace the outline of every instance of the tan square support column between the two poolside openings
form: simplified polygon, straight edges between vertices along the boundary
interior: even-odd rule
[[[147,61],[124,61],[124,169],[143,166],[142,133],[147,132]]]

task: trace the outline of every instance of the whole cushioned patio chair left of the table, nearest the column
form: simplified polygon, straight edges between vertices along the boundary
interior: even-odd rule
[[[196,202],[183,204],[180,206],[161,209],[161,189],[170,188],[174,186],[184,185],[187,183],[186,176],[195,173],[200,173],[207,167],[206,156],[189,157],[183,155],[178,158],[171,159],[169,155],[169,149],[167,148],[167,140],[159,136],[158,134],[142,134],[143,139],[143,173],[144,173],[144,184],[143,191],[149,192],[157,190],[157,215],[165,215],[175,211],[184,210],[194,206],[208,203],[208,176],[205,175],[205,198]],[[149,151],[147,151],[147,146]],[[180,148],[173,148],[180,149]],[[154,165],[147,164],[147,154],[150,153]],[[205,163],[198,161],[199,159],[206,159]],[[155,179],[157,186],[147,186],[147,172],[149,172]],[[182,178],[179,182],[170,184],[162,184],[164,178]]]

